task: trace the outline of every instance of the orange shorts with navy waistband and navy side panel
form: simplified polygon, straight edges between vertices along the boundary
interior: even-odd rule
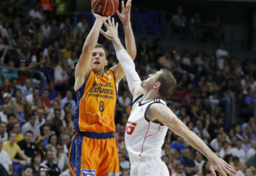
[[[73,176],[119,176],[113,133],[76,133],[69,149],[69,168]]]

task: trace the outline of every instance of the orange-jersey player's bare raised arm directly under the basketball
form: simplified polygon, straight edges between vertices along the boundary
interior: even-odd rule
[[[93,13],[93,15],[95,16],[96,20],[85,40],[85,43],[83,44],[82,53],[75,68],[75,90],[78,90],[81,87],[89,74],[91,69],[92,51],[99,38],[99,29],[102,27],[103,19],[107,19],[107,17],[102,17],[95,13]]]

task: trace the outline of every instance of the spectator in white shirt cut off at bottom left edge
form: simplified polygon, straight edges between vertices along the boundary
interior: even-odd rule
[[[2,150],[3,140],[0,138],[0,164],[2,164],[5,170],[11,175],[13,171],[12,160],[6,151]],[[2,173],[3,174],[3,173]]]

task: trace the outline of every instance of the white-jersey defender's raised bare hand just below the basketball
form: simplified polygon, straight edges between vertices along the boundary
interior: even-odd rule
[[[111,41],[115,41],[118,40],[118,22],[115,25],[115,21],[114,18],[108,17],[107,22],[104,20],[103,21],[104,26],[107,28],[107,31],[103,31],[102,29],[100,29],[100,33],[102,33],[102,35],[104,35],[107,39],[111,40]]]

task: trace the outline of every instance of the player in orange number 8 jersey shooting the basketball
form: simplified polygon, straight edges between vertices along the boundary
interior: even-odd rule
[[[133,60],[136,45],[130,23],[131,0],[122,12],[117,12],[125,29],[125,42]],[[93,12],[92,12],[93,13]],[[120,64],[107,66],[106,49],[97,44],[103,20],[107,17],[93,13],[96,20],[83,45],[75,69],[74,90],[77,107],[74,112],[76,134],[69,150],[69,167],[76,176],[118,176],[119,159],[115,131],[114,109],[119,81],[125,76]]]

